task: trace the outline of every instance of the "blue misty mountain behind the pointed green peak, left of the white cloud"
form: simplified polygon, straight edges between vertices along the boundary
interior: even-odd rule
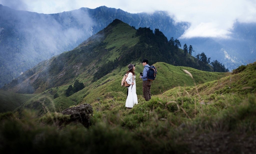
[[[0,87],[42,60],[72,50],[114,19],[138,27],[161,28],[172,36],[184,33],[187,23],[174,24],[165,12],[130,14],[105,6],[38,14],[0,6]]]

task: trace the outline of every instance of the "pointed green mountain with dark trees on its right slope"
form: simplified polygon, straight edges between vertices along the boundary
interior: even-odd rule
[[[3,89],[15,93],[41,93],[81,77],[85,78],[82,79],[83,83],[88,86],[109,72],[144,58],[150,59],[152,64],[167,62],[176,66],[212,70],[208,63],[193,56],[190,58],[188,53],[184,55],[184,51],[174,45],[174,40],[168,42],[166,39],[158,29],[155,33],[149,28],[136,30],[115,19],[78,47],[40,62]]]

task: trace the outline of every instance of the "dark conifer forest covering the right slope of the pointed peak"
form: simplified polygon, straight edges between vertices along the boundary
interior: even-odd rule
[[[135,27],[133,27],[135,29]],[[224,65],[217,60],[210,62],[211,58],[207,58],[204,52],[198,54],[196,57],[191,56],[194,51],[193,46],[184,44],[183,50],[179,47],[181,43],[178,39],[173,37],[170,40],[159,31],[155,29],[154,32],[150,28],[138,28],[135,36],[140,36],[140,41],[133,47],[127,48],[123,46],[121,48],[122,55],[114,61],[102,65],[98,68],[98,71],[94,73],[93,81],[102,78],[116,67],[127,66],[131,61],[141,61],[142,59],[148,59],[149,65],[156,62],[165,62],[174,66],[186,66],[195,68],[198,70],[210,71],[210,72],[228,72]]]

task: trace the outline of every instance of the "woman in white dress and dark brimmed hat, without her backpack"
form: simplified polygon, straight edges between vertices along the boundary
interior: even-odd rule
[[[128,87],[127,90],[127,99],[126,99],[126,103],[125,103],[125,107],[127,107],[128,109],[133,108],[133,106],[135,104],[138,104],[138,99],[137,99],[137,94],[136,94],[136,82],[135,82],[135,64],[129,64],[128,68],[129,71],[127,71],[127,78],[126,78],[126,82],[128,84],[130,84],[130,86]]]

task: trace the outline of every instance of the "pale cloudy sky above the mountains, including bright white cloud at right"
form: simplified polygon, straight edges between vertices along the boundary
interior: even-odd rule
[[[191,23],[182,38],[229,38],[234,22],[256,22],[256,0],[0,0],[0,4],[44,14],[103,5],[130,13],[168,11],[176,22]]]

